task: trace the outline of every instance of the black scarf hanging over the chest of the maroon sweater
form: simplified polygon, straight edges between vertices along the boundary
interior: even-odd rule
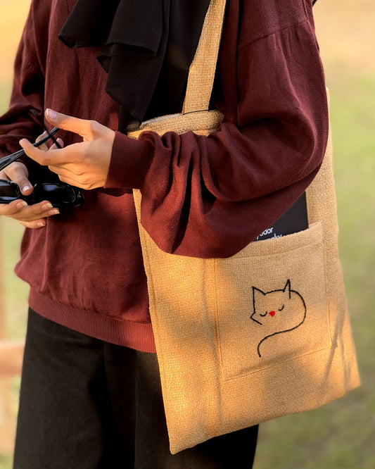
[[[59,38],[102,46],[106,92],[130,120],[176,112],[210,0],[77,0]],[[93,77],[95,80],[95,77]]]

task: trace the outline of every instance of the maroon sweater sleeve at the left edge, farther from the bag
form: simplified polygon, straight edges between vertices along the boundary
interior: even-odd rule
[[[14,64],[13,90],[8,111],[0,117],[0,155],[20,149],[22,138],[34,139],[40,127],[30,118],[34,109],[43,118],[44,75],[48,42],[49,2],[32,1]],[[24,162],[30,162],[27,157]]]

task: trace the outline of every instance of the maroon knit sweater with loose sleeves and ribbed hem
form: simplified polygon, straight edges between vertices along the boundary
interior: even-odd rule
[[[1,154],[39,133],[25,115],[30,108],[117,128],[98,49],[68,49],[57,38],[74,4],[32,1],[11,106],[0,120]],[[227,257],[310,184],[328,133],[311,0],[228,0],[218,71],[218,132],[144,132],[139,141],[117,132],[106,187],[85,192],[81,208],[25,231],[16,272],[30,284],[35,311],[98,339],[154,351],[132,188],[142,191],[142,223],[161,249]],[[65,144],[77,139],[61,137]]]

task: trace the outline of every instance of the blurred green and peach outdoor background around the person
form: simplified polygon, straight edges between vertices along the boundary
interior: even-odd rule
[[[1,114],[8,106],[13,59],[29,5],[30,0],[1,0]],[[372,0],[318,0],[314,17],[331,94],[341,261],[362,387],[317,411],[262,424],[254,467],[374,469],[375,4]],[[4,279],[0,301],[6,318],[2,333],[12,340],[23,339],[26,327],[27,286],[13,274],[21,235],[20,225],[0,220]],[[4,389],[9,399],[4,400],[8,395],[1,394]],[[0,378],[0,427],[10,409],[9,434],[18,390],[18,377]],[[1,446],[0,442],[0,469],[10,469],[11,450]]]

